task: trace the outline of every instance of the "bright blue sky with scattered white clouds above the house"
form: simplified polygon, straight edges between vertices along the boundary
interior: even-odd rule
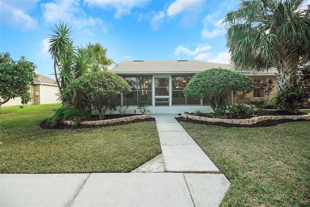
[[[310,4],[307,0],[306,4]],[[0,0],[0,52],[25,56],[36,71],[54,78],[48,38],[60,22],[75,46],[108,48],[124,60],[199,60],[230,64],[226,14],[239,0]]]

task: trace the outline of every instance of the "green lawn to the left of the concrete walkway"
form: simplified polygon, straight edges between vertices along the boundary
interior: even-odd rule
[[[130,172],[160,154],[155,122],[84,129],[41,129],[56,104],[3,107],[1,173]]]

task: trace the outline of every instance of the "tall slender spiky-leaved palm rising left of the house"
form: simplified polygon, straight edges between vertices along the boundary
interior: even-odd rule
[[[60,22],[59,25],[55,24],[55,29],[50,28],[50,31],[52,31],[53,34],[49,34],[50,38],[48,40],[48,53],[54,60],[54,74],[61,100],[63,100],[63,89],[66,85],[63,84],[63,81],[67,81],[70,75],[70,70],[67,68],[68,64],[71,62],[71,57],[69,55],[72,53],[73,49],[72,40],[69,38],[71,35],[70,29],[71,27],[67,27],[67,24],[64,24],[63,22]],[[63,61],[65,61],[65,63]],[[58,67],[60,73],[57,72],[56,67]],[[61,75],[62,83],[58,78],[58,75]]]

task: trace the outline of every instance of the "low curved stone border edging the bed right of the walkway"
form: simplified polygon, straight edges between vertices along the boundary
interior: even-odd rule
[[[219,118],[209,118],[204,116],[195,116],[187,113],[182,113],[181,117],[194,119],[198,121],[207,121],[207,122],[222,122],[228,124],[240,124],[240,125],[252,125],[257,124],[263,120],[280,120],[280,119],[306,119],[310,120],[310,113],[303,115],[284,115],[284,116],[256,116],[249,119],[219,119]]]

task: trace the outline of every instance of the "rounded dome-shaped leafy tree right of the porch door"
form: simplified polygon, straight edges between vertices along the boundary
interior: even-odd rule
[[[194,75],[183,90],[184,96],[205,97],[213,111],[229,105],[231,93],[250,93],[256,84],[250,78],[228,69],[212,68]]]

